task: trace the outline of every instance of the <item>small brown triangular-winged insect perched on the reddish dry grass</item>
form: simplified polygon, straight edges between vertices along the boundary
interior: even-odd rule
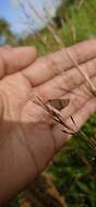
[[[48,102],[50,106],[56,108],[57,110],[61,111],[63,108],[68,107],[70,104],[70,99],[50,99]]]

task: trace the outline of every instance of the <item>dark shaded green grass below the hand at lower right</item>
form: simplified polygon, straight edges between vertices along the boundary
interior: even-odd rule
[[[93,137],[96,115],[83,126],[88,138]],[[96,153],[80,135],[73,137],[55,158],[49,168],[60,193],[70,207],[96,206]]]

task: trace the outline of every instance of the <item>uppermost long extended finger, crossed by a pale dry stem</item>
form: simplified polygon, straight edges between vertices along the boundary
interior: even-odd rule
[[[72,68],[74,64],[69,59],[68,51],[79,64],[84,63],[96,57],[96,40],[88,40],[58,52],[39,58],[33,66],[23,71],[33,86],[45,83],[61,71]]]

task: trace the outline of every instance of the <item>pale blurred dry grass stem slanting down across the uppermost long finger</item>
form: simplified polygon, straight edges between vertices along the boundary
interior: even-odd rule
[[[82,4],[84,2],[84,0],[80,1],[80,4]],[[45,20],[41,16],[40,12],[38,12],[36,10],[36,8],[33,5],[33,3],[31,1],[28,1],[28,7],[32,9],[32,11],[35,13],[35,15],[45,24]],[[29,20],[29,15],[27,14],[27,11],[25,9],[25,7],[23,5],[23,3],[21,4],[21,8],[26,16],[27,20]],[[68,19],[68,17],[67,17]],[[56,44],[58,44],[59,49],[62,48],[62,40],[59,37],[59,35],[57,34],[55,27],[52,24],[47,24],[47,29],[49,32],[49,34],[53,37]],[[37,34],[35,34],[36,37],[45,45],[47,46],[47,42],[45,41],[45,39],[41,37],[41,35],[39,34],[39,32]],[[48,47],[48,46],[47,46]],[[49,47],[48,47],[49,48]],[[91,78],[88,77],[87,73],[84,73],[82,68],[79,65],[79,63],[74,60],[74,58],[72,57],[72,54],[67,51],[67,56],[69,57],[69,59],[71,60],[71,62],[74,64],[74,66],[79,70],[79,72],[81,73],[81,75],[83,76],[83,78],[86,81],[87,83],[87,88],[91,90],[91,93],[96,96],[96,87],[94,86],[94,84],[92,83]]]

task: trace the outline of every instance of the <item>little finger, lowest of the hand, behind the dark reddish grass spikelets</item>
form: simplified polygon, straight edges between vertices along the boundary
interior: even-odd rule
[[[87,119],[96,111],[96,98],[89,99],[76,113],[73,114],[73,119],[76,123],[77,129],[87,121]],[[65,122],[70,127],[76,131],[74,124],[69,118]],[[71,138],[71,135],[64,134],[62,132],[63,127],[59,124],[53,126],[52,136],[55,138],[57,150],[59,150],[67,141]]]

